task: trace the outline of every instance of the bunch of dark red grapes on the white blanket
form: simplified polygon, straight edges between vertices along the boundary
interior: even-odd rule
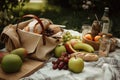
[[[52,61],[52,68],[55,69],[68,69],[68,61],[70,59],[70,55],[68,53],[63,53],[61,57],[59,57],[56,61]]]

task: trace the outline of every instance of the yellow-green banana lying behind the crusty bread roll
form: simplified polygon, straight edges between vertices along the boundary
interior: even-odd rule
[[[72,46],[75,50],[84,50],[84,51],[87,51],[87,52],[94,52],[94,48],[89,45],[89,44],[86,44],[86,43],[82,43],[82,42],[79,42],[77,44],[74,44]]]

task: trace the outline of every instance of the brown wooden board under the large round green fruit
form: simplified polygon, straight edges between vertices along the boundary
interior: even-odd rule
[[[19,80],[22,77],[29,76],[41,67],[43,67],[44,62],[37,60],[26,59],[23,63],[22,68],[19,72],[7,74],[2,71],[0,67],[0,80]]]

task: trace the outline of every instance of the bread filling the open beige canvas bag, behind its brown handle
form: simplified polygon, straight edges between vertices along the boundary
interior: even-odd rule
[[[42,24],[43,24],[43,27],[44,27],[44,30],[45,30],[44,34],[46,36],[52,36],[52,35],[60,32],[60,31],[62,31],[60,25],[55,25],[50,20],[42,18],[41,21],[42,21]],[[42,27],[38,23],[37,20],[33,20],[26,27],[24,27],[23,30],[27,31],[27,32],[33,32],[33,33],[41,34]]]

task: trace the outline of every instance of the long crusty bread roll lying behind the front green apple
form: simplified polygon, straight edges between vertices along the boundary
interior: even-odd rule
[[[94,53],[86,53],[86,52],[76,52],[76,53],[72,53],[70,55],[71,57],[76,56],[76,57],[80,57],[82,58],[84,61],[97,61],[98,60],[98,55],[94,54]]]

